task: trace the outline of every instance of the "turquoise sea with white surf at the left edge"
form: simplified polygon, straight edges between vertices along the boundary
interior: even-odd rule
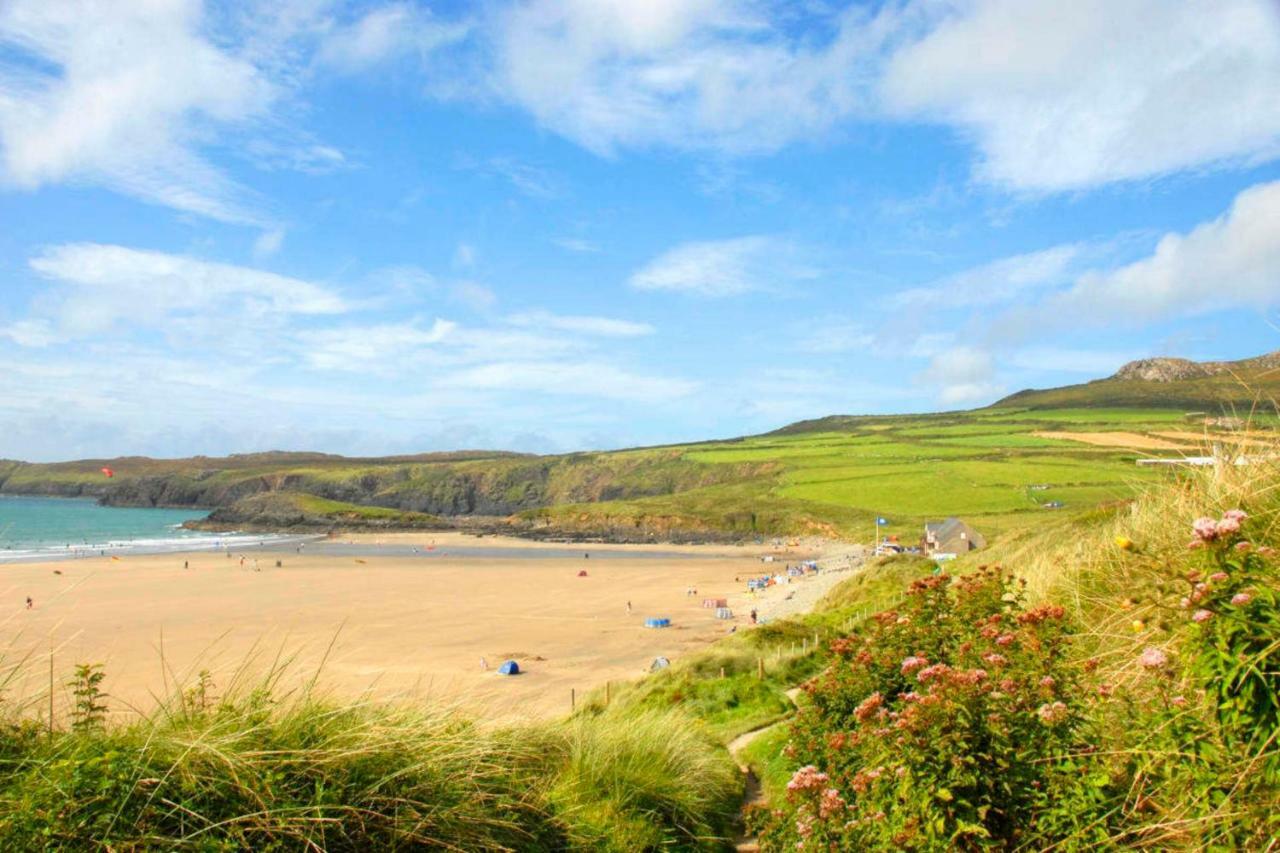
[[[0,496],[0,562],[212,551],[283,539],[183,529],[201,510],[101,506],[88,498]]]

